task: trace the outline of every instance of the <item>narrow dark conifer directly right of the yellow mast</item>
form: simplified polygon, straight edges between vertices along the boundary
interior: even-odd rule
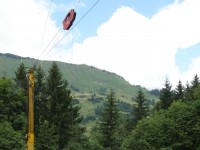
[[[49,125],[48,103],[45,91],[45,74],[39,66],[35,71],[34,87],[34,127],[35,127],[35,149],[55,149],[56,133],[55,127]],[[45,129],[44,129],[45,128]],[[46,141],[46,142],[45,142]],[[47,142],[48,141],[48,142]]]

